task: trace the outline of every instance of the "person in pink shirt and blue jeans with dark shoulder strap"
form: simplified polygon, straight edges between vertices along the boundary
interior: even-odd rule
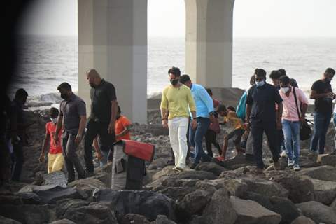
[[[308,99],[302,90],[290,86],[288,76],[281,76],[279,81],[281,87],[279,94],[283,99],[282,130],[288,153],[288,167],[293,167],[297,171],[300,169],[300,123],[305,120]]]

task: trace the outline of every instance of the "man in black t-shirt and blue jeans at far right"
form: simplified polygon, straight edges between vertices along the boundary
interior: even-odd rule
[[[311,87],[310,99],[315,99],[314,134],[311,138],[310,150],[320,154],[324,153],[325,135],[332,115],[332,92],[330,82],[335,76],[335,70],[328,68],[323,73],[323,78],[317,80]]]

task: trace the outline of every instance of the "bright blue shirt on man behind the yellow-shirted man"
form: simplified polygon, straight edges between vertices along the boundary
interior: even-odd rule
[[[193,83],[191,94],[195,100],[197,118],[209,118],[209,113],[214,111],[214,102],[207,90],[202,85]]]

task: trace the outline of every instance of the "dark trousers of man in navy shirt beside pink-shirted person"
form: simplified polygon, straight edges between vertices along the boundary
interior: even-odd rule
[[[274,122],[262,122],[252,121],[252,137],[253,137],[253,153],[255,155],[255,162],[258,168],[264,168],[264,162],[262,161],[262,134],[265,132],[269,148],[272,153],[274,162],[279,160],[279,152],[276,144],[276,123]]]

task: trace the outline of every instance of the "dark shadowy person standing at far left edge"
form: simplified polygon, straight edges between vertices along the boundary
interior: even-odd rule
[[[15,92],[15,99],[10,105],[10,136],[13,144],[13,173],[12,180],[20,181],[22,166],[25,162],[23,145],[25,143],[25,130],[27,127],[23,106],[27,102],[28,93],[24,89]]]

